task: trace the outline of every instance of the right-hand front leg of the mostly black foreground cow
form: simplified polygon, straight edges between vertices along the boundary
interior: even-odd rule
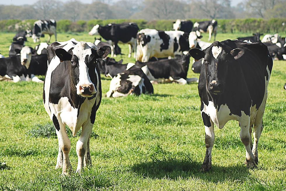
[[[250,134],[249,134],[249,128],[250,128],[250,117],[245,116],[240,119],[240,140],[245,146],[245,157],[246,157],[246,165],[247,168],[254,168],[254,157],[250,148]]]

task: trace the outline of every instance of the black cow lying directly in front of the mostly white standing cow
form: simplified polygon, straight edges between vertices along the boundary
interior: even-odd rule
[[[190,64],[190,55],[178,56],[175,59],[164,59],[154,62],[139,62],[136,66],[142,68],[142,71],[149,78],[151,83],[160,83],[170,80],[179,84],[195,82],[197,78],[187,78]]]

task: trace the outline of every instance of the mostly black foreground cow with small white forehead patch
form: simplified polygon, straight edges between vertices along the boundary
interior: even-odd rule
[[[212,166],[214,124],[222,129],[229,120],[239,122],[247,167],[256,167],[257,144],[263,129],[262,116],[273,66],[267,47],[261,42],[226,40],[215,41],[203,51],[191,49],[189,53],[196,60],[204,58],[198,83],[206,146],[201,170],[209,171]]]

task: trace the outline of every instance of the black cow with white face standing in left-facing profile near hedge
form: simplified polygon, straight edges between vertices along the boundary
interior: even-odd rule
[[[136,52],[136,35],[139,28],[135,23],[122,23],[122,24],[108,24],[106,26],[100,26],[96,24],[89,35],[100,35],[106,41],[110,41],[111,45],[116,47],[118,43],[128,44],[129,54],[128,57],[131,57],[131,53]],[[116,56],[113,51],[111,51],[111,57]]]

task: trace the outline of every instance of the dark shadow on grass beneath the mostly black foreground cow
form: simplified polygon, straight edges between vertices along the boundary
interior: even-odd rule
[[[151,161],[135,164],[131,167],[132,171],[143,178],[163,179],[169,178],[200,178],[204,181],[218,183],[226,180],[245,181],[249,171],[246,166],[241,164],[221,167],[212,165],[209,172],[200,171],[201,163],[192,160],[172,160],[172,161]]]

